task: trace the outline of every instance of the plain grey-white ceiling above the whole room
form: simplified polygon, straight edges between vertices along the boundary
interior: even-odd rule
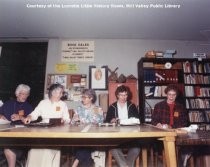
[[[0,0],[0,39],[205,41],[209,7],[209,0]]]

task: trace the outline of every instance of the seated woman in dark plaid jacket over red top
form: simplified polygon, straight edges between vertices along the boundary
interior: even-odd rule
[[[152,125],[158,128],[181,128],[189,126],[188,114],[185,107],[178,101],[177,97],[179,90],[176,85],[170,84],[164,90],[166,99],[157,103],[152,114]],[[157,151],[163,148],[162,142],[156,142],[154,146]],[[186,166],[186,160],[189,158],[193,149],[180,149],[182,160],[179,161],[179,166]]]

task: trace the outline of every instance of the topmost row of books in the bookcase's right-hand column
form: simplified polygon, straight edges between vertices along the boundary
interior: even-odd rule
[[[184,73],[210,73],[210,63],[201,63],[198,61],[183,63]]]

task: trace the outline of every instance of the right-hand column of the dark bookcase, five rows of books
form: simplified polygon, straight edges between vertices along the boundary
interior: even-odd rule
[[[210,60],[183,62],[185,104],[193,123],[210,121]]]

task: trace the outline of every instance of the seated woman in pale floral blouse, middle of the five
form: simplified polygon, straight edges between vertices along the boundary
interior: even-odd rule
[[[98,124],[103,122],[102,108],[95,106],[96,93],[92,89],[84,89],[82,91],[82,104],[75,110],[71,124]],[[72,167],[92,166],[91,158],[92,149],[79,148],[75,153],[75,160]]]

